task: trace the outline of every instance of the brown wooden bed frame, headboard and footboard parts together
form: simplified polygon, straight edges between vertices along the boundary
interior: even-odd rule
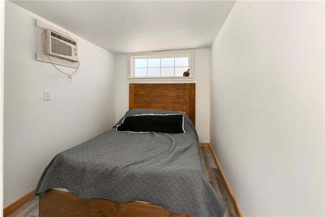
[[[129,109],[150,108],[183,111],[195,125],[195,83],[129,84]],[[162,206],[141,202],[118,203],[82,199],[69,192],[48,190],[39,197],[39,216],[193,216],[170,212]]]

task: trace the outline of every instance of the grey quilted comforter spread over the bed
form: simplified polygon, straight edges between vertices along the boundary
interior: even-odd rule
[[[202,171],[197,132],[186,115],[184,123],[181,134],[121,133],[113,128],[58,153],[45,168],[34,197],[65,188],[80,198],[145,201],[173,212],[223,216],[223,201]]]

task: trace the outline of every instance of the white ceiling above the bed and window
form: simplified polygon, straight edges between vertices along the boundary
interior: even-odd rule
[[[15,1],[115,54],[209,48],[235,1]]]

